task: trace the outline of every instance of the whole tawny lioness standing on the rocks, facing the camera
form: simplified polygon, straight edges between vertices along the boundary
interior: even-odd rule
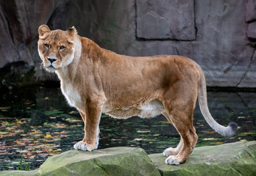
[[[177,129],[181,140],[167,148],[166,164],[181,164],[191,155],[198,136],[193,128],[196,98],[205,120],[216,132],[232,136],[235,122],[219,125],[210,115],[204,73],[184,56],[133,57],[100,48],[80,37],[74,26],[66,31],[38,29],[38,53],[43,67],[57,73],[61,90],[85,122],[85,137],[76,150],[92,151],[99,144],[101,114],[126,119],[163,114]]]

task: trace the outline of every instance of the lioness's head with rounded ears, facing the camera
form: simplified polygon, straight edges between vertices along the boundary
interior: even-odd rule
[[[38,53],[46,70],[54,72],[73,61],[74,35],[77,34],[74,26],[66,31],[51,31],[48,26],[42,25],[38,34]]]

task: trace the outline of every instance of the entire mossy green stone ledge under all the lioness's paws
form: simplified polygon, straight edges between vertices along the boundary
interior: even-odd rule
[[[166,165],[165,159],[162,153],[146,155],[143,149],[133,147],[69,150],[49,157],[37,170],[3,171],[0,175],[255,175],[256,141],[196,147],[179,166]]]

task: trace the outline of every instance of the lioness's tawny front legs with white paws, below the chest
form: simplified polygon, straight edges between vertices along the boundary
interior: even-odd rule
[[[99,120],[102,114],[102,105],[90,101],[87,103],[86,114],[82,112],[80,114],[85,122],[85,137],[82,141],[74,144],[74,148],[76,150],[95,150],[99,145]]]

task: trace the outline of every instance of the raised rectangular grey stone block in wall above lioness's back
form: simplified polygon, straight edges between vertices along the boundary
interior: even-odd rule
[[[193,0],[136,0],[137,37],[195,40]]]

